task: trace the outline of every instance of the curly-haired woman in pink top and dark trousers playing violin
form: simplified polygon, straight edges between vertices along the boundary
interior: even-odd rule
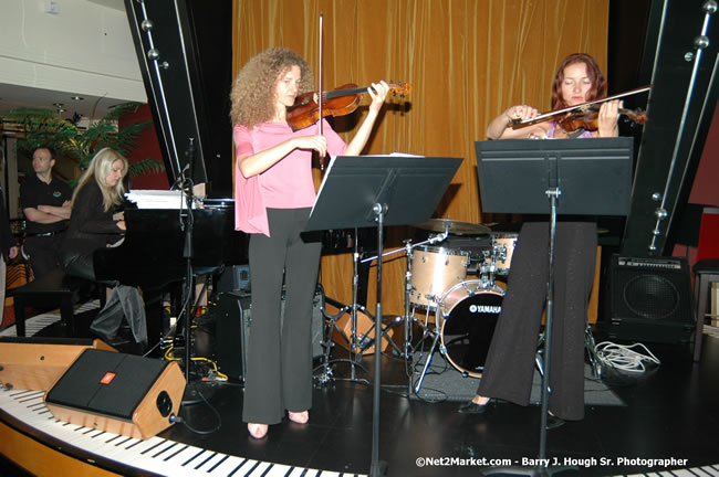
[[[365,147],[388,86],[368,89],[369,112],[346,145],[324,120],[292,130],[286,109],[312,88],[308,63],[285,47],[253,56],[238,73],[230,99],[236,148],[236,229],[250,234],[252,327],[247,349],[242,420],[254,438],[288,417],[308,423],[312,405],[311,320],[321,243],[300,233],[315,192],[312,151],[356,156]],[[285,316],[281,319],[282,284]]]

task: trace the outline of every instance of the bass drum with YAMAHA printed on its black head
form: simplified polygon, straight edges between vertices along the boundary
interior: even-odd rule
[[[441,298],[441,346],[447,360],[462,374],[480,378],[504,292],[483,288],[480,280],[451,287]]]

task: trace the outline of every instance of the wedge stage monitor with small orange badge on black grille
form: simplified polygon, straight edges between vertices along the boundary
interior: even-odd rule
[[[175,361],[87,349],[45,405],[60,421],[146,439],[174,424],[185,385]]]

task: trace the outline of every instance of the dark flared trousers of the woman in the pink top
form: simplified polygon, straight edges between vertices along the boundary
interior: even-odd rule
[[[322,243],[300,236],[309,216],[310,209],[268,209],[271,236],[250,236],[252,324],[242,409],[248,423],[277,424],[285,410],[312,406],[312,306]]]

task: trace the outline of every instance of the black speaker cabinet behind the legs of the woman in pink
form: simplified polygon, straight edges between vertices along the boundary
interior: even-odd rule
[[[252,299],[247,292],[228,292],[220,295],[215,308],[216,317],[216,359],[223,374],[244,380],[247,371],[247,340],[252,326]],[[284,293],[282,293],[282,316],[284,316]],[[322,293],[314,295],[312,306],[312,356],[321,357],[322,331]]]

